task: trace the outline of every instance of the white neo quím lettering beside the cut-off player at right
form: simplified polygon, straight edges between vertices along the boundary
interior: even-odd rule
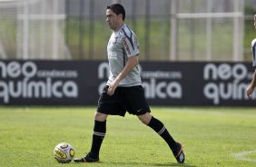
[[[203,87],[203,94],[214,104],[219,104],[221,100],[247,99],[248,83],[242,80],[250,77],[244,64],[206,64],[203,79],[208,83]]]

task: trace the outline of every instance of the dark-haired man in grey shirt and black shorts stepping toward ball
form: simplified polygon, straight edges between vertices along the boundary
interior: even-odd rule
[[[126,112],[137,115],[142,123],[158,133],[172,150],[177,162],[183,163],[182,144],[175,142],[161,121],[154,118],[144,97],[138,69],[139,43],[133,31],[124,24],[123,5],[107,6],[106,23],[113,30],[107,45],[110,75],[103,88],[94,115],[94,133],[91,152],[74,162],[98,162],[99,152],[106,133],[106,119],[110,115],[124,116]]]

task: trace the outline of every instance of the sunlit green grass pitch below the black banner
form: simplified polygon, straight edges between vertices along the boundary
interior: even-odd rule
[[[110,116],[101,162],[54,160],[54,146],[69,142],[75,157],[89,152],[94,107],[0,107],[0,166],[256,166],[255,108],[152,107],[182,142],[186,162],[133,115]]]

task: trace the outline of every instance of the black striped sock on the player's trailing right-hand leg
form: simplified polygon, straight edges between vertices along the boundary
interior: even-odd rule
[[[169,147],[172,150],[175,149],[176,142],[174,141],[170,133],[168,133],[167,129],[161,121],[155,119],[152,116],[152,119],[150,123],[148,123],[148,126],[150,126],[156,133],[158,133],[162,137],[162,139],[164,139],[164,141],[168,143]]]

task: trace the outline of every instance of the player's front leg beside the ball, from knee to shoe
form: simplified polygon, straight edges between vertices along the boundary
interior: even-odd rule
[[[99,162],[99,152],[106,133],[107,114],[95,113],[94,133],[91,151],[82,158],[74,159],[74,162]]]

